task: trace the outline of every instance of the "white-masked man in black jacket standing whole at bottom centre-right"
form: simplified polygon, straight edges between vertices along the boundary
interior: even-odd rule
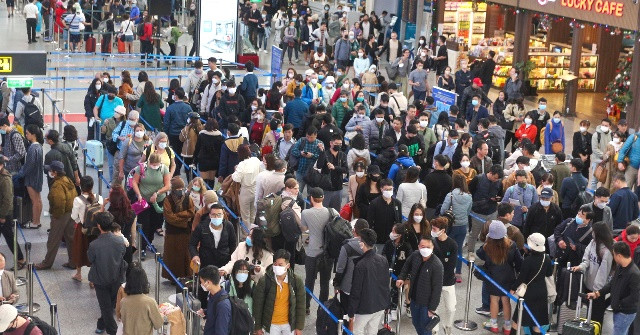
[[[414,251],[402,268],[396,286],[411,279],[411,322],[418,335],[428,335],[431,319],[440,305],[444,267],[438,257],[433,256],[434,242],[431,235],[422,235],[418,250]]]

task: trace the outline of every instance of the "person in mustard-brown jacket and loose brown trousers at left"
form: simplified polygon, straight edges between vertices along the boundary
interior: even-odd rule
[[[44,260],[36,264],[36,269],[47,270],[53,266],[58,253],[58,247],[64,237],[67,246],[69,261],[63,264],[63,267],[74,269],[75,266],[71,260],[73,250],[73,231],[74,222],[71,220],[71,210],[73,209],[73,200],[78,195],[75,185],[65,173],[62,162],[54,160],[45,165],[45,171],[49,178],[52,179],[49,186],[49,213],[51,215],[51,231],[47,240],[47,254]]]

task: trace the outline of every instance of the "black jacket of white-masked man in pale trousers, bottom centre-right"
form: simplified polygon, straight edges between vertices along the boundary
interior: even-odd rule
[[[416,250],[404,263],[398,279],[411,280],[409,289],[411,301],[427,306],[430,311],[435,311],[440,304],[443,275],[444,268],[436,255],[431,255],[429,259],[423,261],[420,251]]]

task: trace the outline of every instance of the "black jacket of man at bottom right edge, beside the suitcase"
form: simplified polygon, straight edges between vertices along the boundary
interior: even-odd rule
[[[640,270],[631,262],[623,268],[616,266],[616,271],[602,289],[600,295],[611,293],[611,308],[614,313],[633,314],[638,311],[640,298]]]

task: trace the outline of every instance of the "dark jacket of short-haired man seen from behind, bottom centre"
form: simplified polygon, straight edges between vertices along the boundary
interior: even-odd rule
[[[354,261],[349,316],[372,314],[389,307],[389,263],[371,249]]]

